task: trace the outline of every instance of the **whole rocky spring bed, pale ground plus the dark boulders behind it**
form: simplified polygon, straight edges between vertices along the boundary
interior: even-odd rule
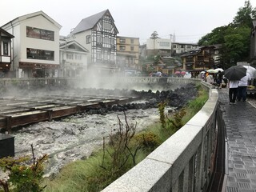
[[[107,92],[107,90],[104,91]],[[45,176],[56,174],[66,163],[88,158],[93,150],[102,147],[103,138],[118,131],[118,117],[125,123],[124,111],[130,126],[137,124],[136,130],[139,131],[158,122],[159,102],[167,103],[166,113],[168,113],[184,106],[197,94],[197,89],[193,84],[176,90],[156,92],[151,90],[115,91],[126,92],[122,94],[137,96],[141,100],[125,105],[102,106],[100,109],[90,109],[81,114],[58,119],[58,121],[38,122],[30,126],[19,127],[13,133],[15,156],[30,155],[32,157],[30,146],[33,145],[36,157],[42,154],[50,155]],[[93,93],[92,90],[89,92]],[[102,94],[102,92],[103,90],[94,90],[94,94]],[[113,90],[110,93],[113,94]]]

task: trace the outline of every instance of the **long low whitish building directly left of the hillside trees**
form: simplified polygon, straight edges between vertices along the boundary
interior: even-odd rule
[[[198,49],[198,44],[188,42],[172,42],[171,45],[172,55],[183,54],[190,50]]]

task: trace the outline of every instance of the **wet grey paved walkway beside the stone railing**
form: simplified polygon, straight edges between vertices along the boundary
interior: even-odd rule
[[[256,192],[256,98],[230,105],[222,88],[219,102],[228,143],[226,192]]]

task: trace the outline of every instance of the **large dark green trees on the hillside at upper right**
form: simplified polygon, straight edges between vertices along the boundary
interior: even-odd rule
[[[206,34],[199,41],[199,46],[221,44],[220,65],[226,69],[237,62],[248,61],[250,55],[250,29],[256,18],[256,9],[246,1],[239,8],[233,22],[227,26],[219,26]]]

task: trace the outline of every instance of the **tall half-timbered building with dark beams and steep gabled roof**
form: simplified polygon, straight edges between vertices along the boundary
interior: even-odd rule
[[[83,18],[67,39],[75,38],[88,53],[88,68],[100,74],[118,71],[116,44],[118,29],[109,10]]]

